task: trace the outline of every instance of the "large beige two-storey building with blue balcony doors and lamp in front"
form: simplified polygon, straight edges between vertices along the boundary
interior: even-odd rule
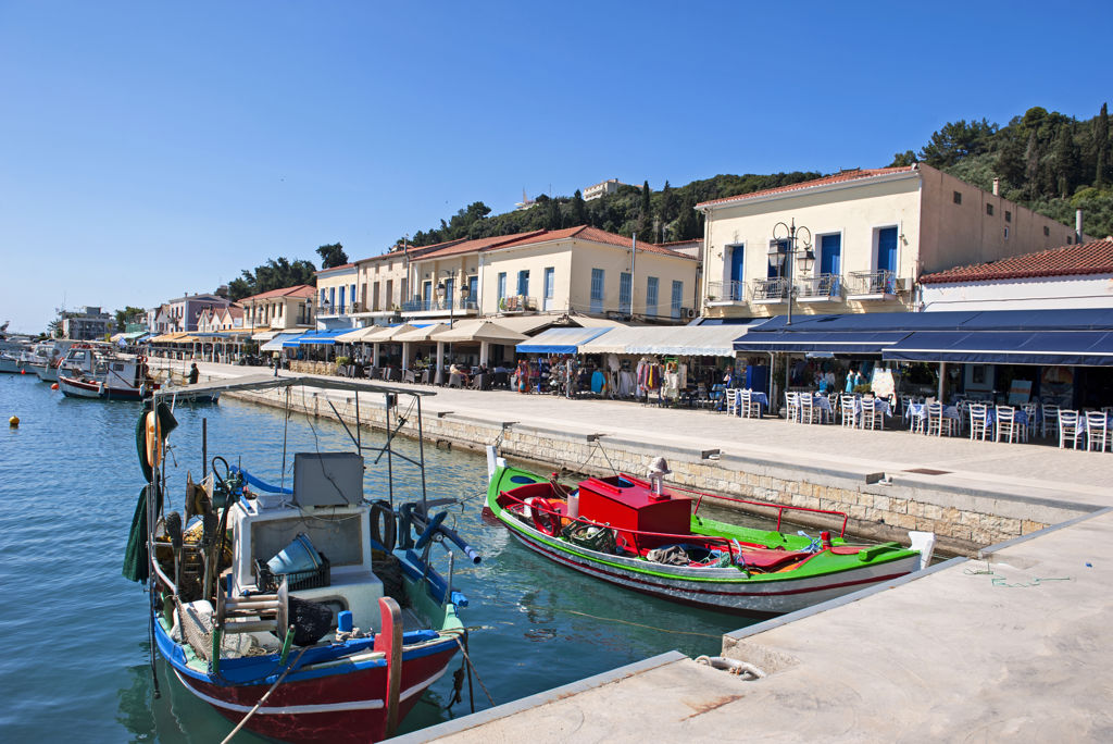
[[[790,275],[795,313],[914,310],[924,274],[1075,241],[1071,227],[923,164],[844,170],[697,208],[711,317],[785,314]],[[795,262],[792,224],[807,228]]]

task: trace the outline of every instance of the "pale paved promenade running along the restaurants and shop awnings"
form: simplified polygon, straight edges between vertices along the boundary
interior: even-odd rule
[[[180,365],[177,362],[175,369],[180,371]],[[213,376],[258,373],[265,369],[204,362],[198,368],[203,375]],[[424,403],[426,415],[451,411],[493,423],[518,421],[570,433],[603,433],[695,451],[720,449],[725,456],[765,458],[789,466],[886,472],[896,482],[914,487],[988,490],[1090,508],[1113,506],[1110,489],[1113,454],[1061,450],[1043,440],[1005,444],[971,441],[965,437],[924,437],[904,430],[859,431],[839,425],[789,424],[771,418],[740,419],[707,410],[659,409],[624,401],[429,389],[437,395]],[[607,437],[600,441],[605,449]],[[915,469],[943,472],[908,472]]]

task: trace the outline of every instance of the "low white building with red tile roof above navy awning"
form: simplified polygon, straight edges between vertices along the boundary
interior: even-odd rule
[[[925,311],[1113,307],[1113,237],[919,278]]]

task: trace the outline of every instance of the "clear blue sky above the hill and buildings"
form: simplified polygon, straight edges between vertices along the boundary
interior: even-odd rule
[[[876,167],[1109,96],[1110,3],[0,0],[0,322],[617,177]]]

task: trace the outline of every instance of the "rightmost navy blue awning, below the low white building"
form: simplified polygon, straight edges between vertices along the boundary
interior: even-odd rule
[[[920,331],[884,351],[905,362],[1113,365],[1113,331]]]

